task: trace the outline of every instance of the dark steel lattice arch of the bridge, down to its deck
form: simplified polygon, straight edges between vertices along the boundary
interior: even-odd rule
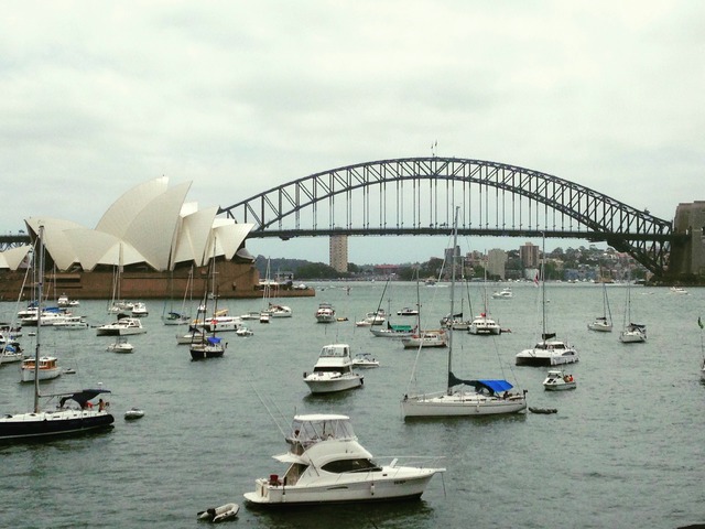
[[[672,223],[567,180],[457,158],[365,162],[299,179],[229,207],[249,237],[447,235],[606,241],[665,274]]]

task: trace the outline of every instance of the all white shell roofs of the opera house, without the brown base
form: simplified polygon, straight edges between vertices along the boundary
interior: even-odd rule
[[[165,271],[188,261],[205,266],[214,251],[232,259],[253,225],[216,218],[217,206],[198,210],[197,203],[185,202],[191,182],[171,188],[167,183],[160,177],[128,191],[95,229],[56,218],[32,217],[25,223],[34,236],[44,226],[44,247],[58,270],[145,263]],[[1,252],[0,268],[15,270],[26,251]]]

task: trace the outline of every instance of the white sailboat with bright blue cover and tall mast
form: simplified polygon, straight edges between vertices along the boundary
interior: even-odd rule
[[[457,212],[453,228],[453,270],[451,273],[451,314],[454,309],[455,248],[457,248]],[[402,414],[408,417],[475,417],[519,413],[527,409],[527,392],[511,391],[513,386],[507,380],[477,379],[463,380],[453,374],[453,327],[448,334],[447,387],[435,393],[404,395],[401,402]]]

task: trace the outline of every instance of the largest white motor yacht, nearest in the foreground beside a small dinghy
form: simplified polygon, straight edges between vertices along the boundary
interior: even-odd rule
[[[445,468],[425,467],[432,458],[382,465],[359,442],[350,419],[337,414],[296,415],[285,438],[289,452],[274,456],[289,464],[283,476],[254,482],[245,499],[260,506],[417,499]]]

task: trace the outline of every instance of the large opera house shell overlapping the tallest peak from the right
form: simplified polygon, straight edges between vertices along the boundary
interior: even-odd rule
[[[180,212],[191,182],[176,185],[148,203],[124,230],[123,239],[156,270],[167,270],[176,240]]]

